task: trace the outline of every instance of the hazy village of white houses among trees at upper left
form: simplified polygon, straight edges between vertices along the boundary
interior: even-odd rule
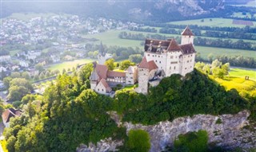
[[[42,68],[85,58],[88,52],[86,42],[98,40],[83,38],[84,34],[130,27],[138,27],[138,24],[64,14],[31,18],[28,21],[4,18],[0,29],[0,91],[6,88],[2,80],[14,72],[26,72],[34,80],[39,80],[46,77],[40,78]],[[58,72],[51,72],[49,76]]]

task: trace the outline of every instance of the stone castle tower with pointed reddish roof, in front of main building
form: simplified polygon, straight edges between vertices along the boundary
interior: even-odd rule
[[[146,57],[143,57],[142,62],[138,65],[138,88],[136,92],[147,94],[149,75],[150,69]]]

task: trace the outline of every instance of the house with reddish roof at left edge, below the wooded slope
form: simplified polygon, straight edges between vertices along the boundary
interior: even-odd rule
[[[21,114],[21,110],[15,110],[12,107],[6,109],[6,111],[2,112],[2,123],[5,125],[5,127],[10,127],[10,118],[20,116]]]

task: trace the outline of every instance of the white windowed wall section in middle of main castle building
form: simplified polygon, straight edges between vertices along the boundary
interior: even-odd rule
[[[181,74],[180,68],[180,56],[182,55],[182,52],[169,52],[167,53],[167,60],[166,60],[166,76],[170,76],[174,73]]]

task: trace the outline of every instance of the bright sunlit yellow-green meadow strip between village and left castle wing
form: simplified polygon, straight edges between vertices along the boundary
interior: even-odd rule
[[[62,62],[60,64],[54,64],[54,65],[51,65],[48,69],[50,70],[56,70],[58,69],[60,72],[62,72],[62,69],[72,69],[73,67],[76,67],[78,64],[86,64],[86,63],[89,63],[89,62],[92,62],[94,60],[92,59],[80,59],[80,60],[72,60],[72,61],[66,61],[66,62]]]

